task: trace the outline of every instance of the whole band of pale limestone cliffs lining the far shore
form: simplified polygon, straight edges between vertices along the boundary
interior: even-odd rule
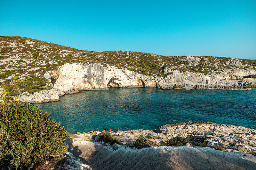
[[[78,90],[108,89],[108,87],[184,89],[186,88],[186,81],[193,82],[192,88],[198,88],[199,83],[202,82],[205,83],[204,88],[218,88],[220,82],[224,82],[224,88],[227,88],[231,82],[235,85],[238,81],[243,81],[246,86],[256,86],[256,78],[243,78],[243,76],[256,74],[252,69],[243,72],[237,69],[232,72],[215,73],[208,76],[202,73],[180,72],[171,68],[164,70],[164,72],[170,74],[164,77],[153,77],[114,66],[67,63],[59,67],[58,70],[44,74],[44,77],[49,79],[53,89],[43,90],[35,94],[26,92],[18,98],[30,103],[43,103],[58,101],[59,96],[76,93]]]

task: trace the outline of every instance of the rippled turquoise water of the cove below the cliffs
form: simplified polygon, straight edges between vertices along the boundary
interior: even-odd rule
[[[155,129],[186,120],[234,124],[256,129],[256,89],[161,90],[112,88],[82,91],[59,102],[35,103],[70,133],[91,130]],[[108,107],[106,107],[108,106]],[[82,123],[82,125],[80,125]]]

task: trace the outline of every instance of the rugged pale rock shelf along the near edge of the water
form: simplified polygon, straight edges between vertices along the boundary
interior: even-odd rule
[[[167,145],[167,140],[175,137],[203,138],[206,143],[216,142],[213,147],[220,147],[226,152],[245,152],[256,155],[256,130],[243,126],[217,124],[211,122],[186,121],[162,125],[155,130],[116,131],[111,134],[120,140],[123,146],[132,146],[137,138],[152,137],[151,141]],[[89,133],[76,133],[74,141],[93,141]],[[103,143],[104,144],[104,143]],[[109,144],[106,144],[109,145]],[[188,145],[190,146],[190,145]],[[255,157],[256,159],[256,157]]]

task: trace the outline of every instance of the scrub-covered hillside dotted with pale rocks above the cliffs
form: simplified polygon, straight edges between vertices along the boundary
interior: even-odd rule
[[[241,79],[241,76],[254,74],[256,70],[256,60],[210,56],[162,56],[131,51],[94,52],[26,37],[0,37],[0,86],[11,92],[11,96],[19,95],[16,93],[18,90],[19,93],[33,94],[43,89],[52,89],[53,84],[45,79],[44,74],[58,70],[67,63],[98,63],[103,67],[125,68],[158,80],[172,77],[175,71],[179,74],[207,77],[222,74],[224,77],[232,74],[237,76],[239,73]]]

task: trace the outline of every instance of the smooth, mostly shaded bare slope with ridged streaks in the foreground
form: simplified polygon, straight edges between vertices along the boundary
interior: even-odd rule
[[[256,169],[249,154],[222,152],[209,147],[172,147],[132,149],[94,142],[67,140],[69,152],[92,169]]]

